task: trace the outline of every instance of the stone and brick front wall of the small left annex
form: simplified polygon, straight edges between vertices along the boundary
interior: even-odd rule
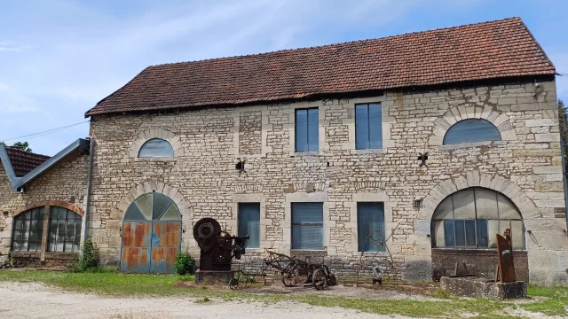
[[[0,168],[0,263],[8,260],[14,216],[38,206],[61,206],[83,215],[88,164],[89,157],[84,153],[65,159],[26,185],[25,192],[12,191],[4,167]],[[44,219],[48,218],[46,212]],[[46,238],[44,227],[43,252],[16,253],[17,264],[57,267],[71,259],[68,253],[45,253]]]

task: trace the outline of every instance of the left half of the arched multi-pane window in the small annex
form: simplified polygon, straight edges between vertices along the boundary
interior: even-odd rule
[[[44,207],[30,209],[14,217],[12,251],[41,252]]]

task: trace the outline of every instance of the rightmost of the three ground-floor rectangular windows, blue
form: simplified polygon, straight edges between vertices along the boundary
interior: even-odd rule
[[[359,252],[383,252],[385,238],[384,205],[379,202],[357,203]]]

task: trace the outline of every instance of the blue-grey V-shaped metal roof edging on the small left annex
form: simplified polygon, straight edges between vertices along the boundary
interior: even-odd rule
[[[37,176],[43,174],[44,171],[48,170],[49,168],[58,164],[61,160],[67,158],[72,152],[77,150],[89,151],[90,142],[89,140],[79,138],[72,144],[69,144],[66,148],[64,148],[61,152],[55,154],[51,159],[47,159],[43,162],[40,166],[34,168],[28,174],[22,177],[16,177],[14,173],[14,169],[12,167],[12,163],[10,162],[10,158],[8,158],[8,153],[6,152],[4,145],[0,145],[0,159],[2,159],[2,164],[4,165],[4,170],[8,175],[8,179],[12,184],[12,191],[19,191],[24,187],[27,183],[31,182],[32,180],[36,179]]]

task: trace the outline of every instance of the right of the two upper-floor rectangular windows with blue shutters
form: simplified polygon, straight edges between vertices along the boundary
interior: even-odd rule
[[[355,148],[383,148],[383,111],[380,103],[355,105]]]

